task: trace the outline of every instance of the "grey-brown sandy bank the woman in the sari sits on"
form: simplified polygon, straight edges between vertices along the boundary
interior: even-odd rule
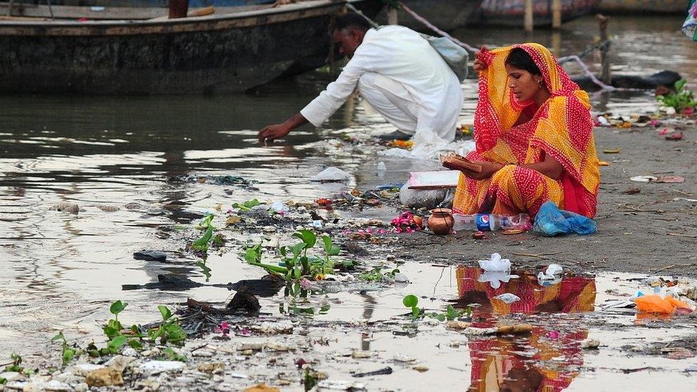
[[[697,200],[697,128],[684,129],[680,141],[659,136],[662,128],[595,129],[598,158],[610,166],[601,167],[598,232],[591,236],[544,238],[529,231],[514,236],[489,233],[488,239],[478,241],[471,231],[447,237],[416,233],[400,237],[395,256],[460,263],[498,252],[521,267],[553,261],[578,272],[697,276],[697,201],[679,199]],[[603,154],[603,149],[621,151]],[[685,182],[629,179],[641,175],[683,176]],[[639,192],[625,193],[631,189]]]

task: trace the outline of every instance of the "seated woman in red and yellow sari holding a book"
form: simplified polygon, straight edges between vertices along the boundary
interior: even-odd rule
[[[483,170],[462,171],[453,211],[534,217],[553,201],[593,218],[600,171],[586,91],[540,44],[484,48],[474,69],[476,150],[467,158]]]

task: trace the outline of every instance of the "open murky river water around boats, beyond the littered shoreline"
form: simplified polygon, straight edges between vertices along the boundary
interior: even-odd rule
[[[614,18],[613,72],[648,75],[671,69],[696,88],[697,44],[679,34],[680,24],[681,18],[671,16]],[[586,18],[558,33],[536,31],[532,37],[503,29],[454,35],[474,46],[538,41],[566,55],[583,51],[597,35],[596,25]],[[598,71],[598,56],[587,61]],[[318,149],[319,141],[345,133],[391,131],[355,98],[319,130],[304,127],[284,143],[258,146],[258,129],[296,113],[328,81],[318,72],[237,96],[1,96],[0,359],[45,347],[60,330],[74,339],[94,336],[116,299],[131,303],[132,319],[126,321],[143,322],[159,317],[157,304],[186,298],[187,293],[121,291],[124,283],[147,283],[180,268],[149,267],[132,258],[142,248],[181,247],[158,227],[189,223],[216,203],[327,196],[336,185],[314,184],[309,177],[329,165],[351,172],[351,185],[358,188],[403,182],[409,170],[435,165],[387,159],[391,170],[376,179],[375,164],[383,159],[327,156]],[[476,84],[466,81],[463,90],[462,121],[471,122]],[[593,104],[596,111],[613,113],[655,109],[649,91],[596,94]],[[202,174],[243,176],[256,181],[256,188],[171,181]],[[49,211],[62,201],[78,203],[84,211]],[[126,209],[126,203],[141,208]],[[104,205],[120,209],[97,208]],[[245,277],[231,276],[224,263],[212,266],[214,281]],[[203,281],[200,271],[189,272]],[[198,299],[223,299],[202,293],[209,298]]]

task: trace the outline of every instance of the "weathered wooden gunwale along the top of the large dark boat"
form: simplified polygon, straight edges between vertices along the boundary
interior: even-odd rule
[[[0,36],[93,36],[161,34],[224,30],[252,27],[290,20],[288,14],[312,17],[326,14],[326,9],[368,0],[312,0],[240,11],[229,14],[191,16],[179,19],[97,20],[97,21],[0,21]],[[292,18],[291,18],[292,19]]]

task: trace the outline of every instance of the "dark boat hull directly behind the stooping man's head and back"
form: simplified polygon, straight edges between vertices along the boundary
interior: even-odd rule
[[[465,26],[473,12],[477,11],[481,0],[402,0],[409,9],[423,16],[438,29],[453,31]],[[387,23],[387,11],[383,9],[377,19],[378,23]],[[416,31],[430,32],[421,22],[413,19],[403,9],[397,11],[398,24]]]

